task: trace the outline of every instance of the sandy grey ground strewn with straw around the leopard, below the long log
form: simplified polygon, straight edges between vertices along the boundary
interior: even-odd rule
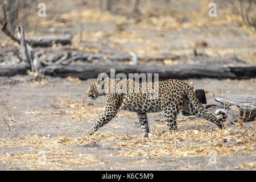
[[[100,116],[105,102],[104,97],[92,102],[85,96],[90,81],[45,77],[43,81],[37,82],[32,76],[1,77],[0,169],[256,169],[255,122],[241,126],[253,133],[248,132],[250,140],[247,144],[254,147],[242,150],[241,147],[246,143],[237,144],[238,150],[230,155],[221,151],[215,155],[210,152],[202,155],[197,151],[187,156],[168,153],[158,155],[154,152],[135,156],[133,152],[129,153],[138,150],[148,152],[147,147],[154,151],[159,146],[152,143],[161,137],[162,142],[174,139],[160,134],[167,131],[164,123],[158,121],[162,119],[160,113],[148,114],[152,133],[148,139],[140,137],[135,113],[126,111],[121,111],[112,122],[98,130],[94,137],[86,136],[85,130]],[[234,94],[252,94],[256,89],[255,79],[185,81],[193,84],[195,89],[207,90],[208,103],[213,102],[212,93],[229,93],[232,90]],[[208,130],[209,126],[208,122],[198,118],[178,121],[181,137],[171,146],[177,150],[184,147],[181,144],[191,148],[207,146],[199,137],[200,133],[207,132],[210,135],[218,130]],[[241,130],[235,125],[229,127]],[[196,132],[198,136],[191,140],[182,137],[187,132]],[[236,146],[236,141],[232,139],[227,145],[225,139],[219,139],[212,138],[212,142],[220,142],[224,151],[229,144]],[[130,145],[131,142],[134,146]],[[214,144],[211,147],[214,151]],[[210,162],[212,157],[216,159],[213,163]]]

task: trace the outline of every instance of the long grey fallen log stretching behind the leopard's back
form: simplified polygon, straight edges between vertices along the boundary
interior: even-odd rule
[[[59,77],[79,77],[81,79],[97,78],[100,73],[110,76],[110,69],[114,69],[115,75],[124,73],[158,73],[160,80],[167,78],[232,78],[245,79],[256,77],[256,67],[226,67],[223,65],[186,64],[175,66],[162,65],[94,65],[94,64],[70,64],[50,65],[45,74]]]

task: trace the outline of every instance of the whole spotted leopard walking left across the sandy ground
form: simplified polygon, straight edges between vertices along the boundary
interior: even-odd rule
[[[192,86],[176,79],[141,83],[130,78],[101,77],[90,82],[86,95],[93,101],[100,96],[106,97],[104,112],[96,123],[86,130],[89,135],[110,122],[120,110],[137,113],[142,137],[148,137],[150,132],[147,113],[162,112],[164,121],[171,131],[177,130],[176,121],[180,110],[206,119],[220,129],[224,128],[227,118],[224,109],[218,109],[214,113],[222,117],[214,116],[198,100]]]

